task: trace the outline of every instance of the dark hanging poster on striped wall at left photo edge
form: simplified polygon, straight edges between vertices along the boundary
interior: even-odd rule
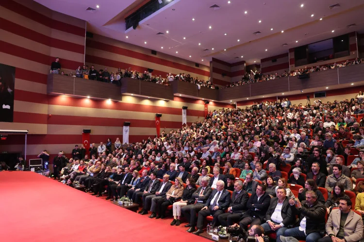
[[[13,122],[15,67],[0,64],[0,122]]]

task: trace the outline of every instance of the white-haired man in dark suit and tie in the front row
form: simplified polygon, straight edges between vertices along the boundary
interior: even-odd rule
[[[222,180],[218,180],[216,183],[216,189],[211,193],[209,199],[207,199],[205,203],[205,207],[203,207],[199,211],[199,217],[197,219],[197,231],[194,234],[200,234],[203,232],[203,219],[210,214],[213,215],[214,219],[212,225],[215,226],[217,222],[217,217],[220,214],[223,214],[224,211],[228,208],[231,200],[230,192],[224,189],[225,183]]]

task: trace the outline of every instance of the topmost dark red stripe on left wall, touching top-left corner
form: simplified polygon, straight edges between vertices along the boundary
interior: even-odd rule
[[[51,19],[48,16],[44,16],[20,3],[13,0],[1,0],[0,5],[4,8],[9,9],[21,16],[32,19],[35,22],[41,23],[49,28],[60,30],[66,33],[72,33],[79,36],[85,36],[85,29],[75,25],[67,24],[55,19]]]

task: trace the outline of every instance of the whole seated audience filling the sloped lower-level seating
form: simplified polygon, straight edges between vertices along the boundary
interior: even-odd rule
[[[62,152],[54,158],[53,175],[107,199],[128,197],[151,219],[170,210],[171,226],[184,217],[196,234],[208,220],[263,229],[278,242],[360,241],[364,115],[354,112],[362,101],[213,110],[204,121],[132,145],[92,144],[90,157],[76,145],[69,160]],[[39,157],[49,159],[46,151]]]

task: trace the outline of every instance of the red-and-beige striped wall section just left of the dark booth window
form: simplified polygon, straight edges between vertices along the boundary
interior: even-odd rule
[[[263,74],[281,74],[284,71],[289,71],[288,53],[261,59],[260,62]]]

